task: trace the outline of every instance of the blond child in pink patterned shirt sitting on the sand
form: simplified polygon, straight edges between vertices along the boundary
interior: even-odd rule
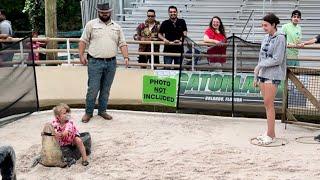
[[[60,146],[76,145],[82,156],[82,165],[89,164],[85,147],[80,139],[79,131],[75,124],[71,121],[70,107],[67,104],[59,104],[53,108],[55,119],[52,121],[52,126],[56,132],[56,139]]]

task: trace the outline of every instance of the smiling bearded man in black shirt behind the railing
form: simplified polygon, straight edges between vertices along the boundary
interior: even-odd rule
[[[163,52],[181,53],[183,49],[179,45],[182,37],[187,35],[187,24],[184,19],[179,19],[178,10],[175,6],[168,8],[169,19],[162,22],[159,30],[159,38],[165,42]],[[164,56],[164,64],[180,64],[180,56]]]

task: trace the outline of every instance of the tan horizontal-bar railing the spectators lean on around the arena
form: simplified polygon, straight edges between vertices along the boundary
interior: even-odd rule
[[[20,38],[10,38],[7,40],[0,40],[1,42],[17,42],[21,40]],[[37,53],[66,53],[67,54],[67,60],[41,60],[41,61],[37,61],[35,62],[36,64],[80,64],[79,60],[73,60],[71,57],[71,54],[78,54],[78,49],[72,49],[70,44],[71,42],[79,42],[79,38],[33,38],[33,41],[40,41],[40,42],[48,42],[48,41],[56,41],[56,42],[65,42],[66,43],[66,49],[35,49],[33,50],[33,52],[37,52]],[[166,52],[155,52],[154,51],[154,46],[155,45],[165,45],[164,42],[162,41],[134,41],[134,40],[130,40],[127,41],[127,44],[150,44],[151,45],[151,51],[150,52],[138,52],[138,51],[129,51],[129,55],[130,56],[135,56],[135,55],[150,55],[151,56],[151,62],[150,64],[148,63],[135,63],[135,62],[130,62],[130,66],[147,66],[150,67],[151,69],[155,69],[155,67],[179,67],[178,65],[170,65],[170,64],[155,64],[154,63],[154,57],[155,56],[175,56],[175,57],[179,57],[181,56],[180,53],[166,53]],[[181,45],[181,44],[172,44],[172,45]],[[192,42],[191,46],[192,46],[192,52],[191,54],[184,54],[184,56],[189,56],[191,57],[191,65],[188,66],[190,68],[192,68],[192,70],[195,70],[196,68],[203,68],[199,65],[195,65],[195,57],[213,57],[213,56],[220,56],[220,55],[208,55],[205,53],[196,53],[195,52],[195,45],[199,45],[199,46],[213,46],[214,44],[211,43],[204,43],[202,41],[200,42]],[[225,46],[227,46],[227,44],[224,44]],[[23,53],[26,52],[26,50],[24,50],[23,45],[20,42],[20,49],[19,50],[5,50],[7,52],[11,51],[14,53],[20,53],[21,56],[21,60],[23,60]],[[237,48],[240,48],[240,46],[238,46],[237,44],[235,45],[236,50]],[[297,49],[310,49],[310,50],[320,50],[320,45],[308,45],[305,47],[298,47],[298,46],[288,46],[288,48],[297,48]],[[119,51],[120,54],[120,51]],[[246,59],[247,61],[257,61],[257,57],[256,56],[242,56],[241,52],[235,53],[235,58],[236,59]],[[320,62],[320,58],[316,57],[316,56],[299,56],[298,58],[292,58],[292,57],[288,57],[288,60],[298,60],[298,61],[310,61],[310,62]],[[124,64],[122,61],[118,61],[119,65]],[[186,66],[187,67],[187,66]]]

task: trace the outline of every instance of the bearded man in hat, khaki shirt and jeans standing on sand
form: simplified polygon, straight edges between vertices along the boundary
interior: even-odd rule
[[[82,122],[86,123],[93,116],[93,110],[99,93],[98,115],[111,120],[107,110],[110,88],[116,73],[116,55],[118,48],[128,65],[128,47],[120,25],[111,20],[112,9],[109,3],[97,5],[98,18],[89,21],[79,42],[80,62],[88,64],[88,90],[86,96],[86,113]],[[88,46],[88,55],[84,52]]]

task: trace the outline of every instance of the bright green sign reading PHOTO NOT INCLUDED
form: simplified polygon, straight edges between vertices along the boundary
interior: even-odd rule
[[[174,78],[159,78],[158,76],[143,76],[143,103],[160,103],[176,107],[177,80]]]

